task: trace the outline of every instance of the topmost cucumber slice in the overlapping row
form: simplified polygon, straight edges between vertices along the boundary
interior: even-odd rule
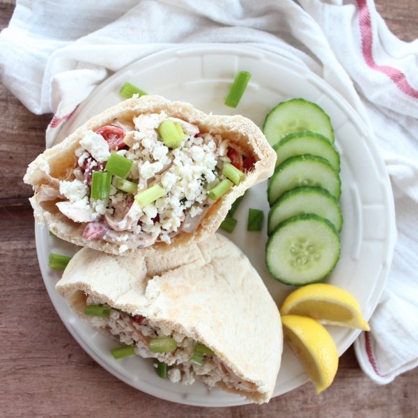
[[[291,99],[277,104],[265,116],[263,133],[271,146],[288,134],[302,131],[321,134],[334,144],[334,130],[330,116],[318,104],[304,99]]]

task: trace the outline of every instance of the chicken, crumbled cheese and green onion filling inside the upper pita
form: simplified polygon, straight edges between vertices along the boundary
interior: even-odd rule
[[[58,187],[40,187],[39,199],[59,199],[63,215],[85,224],[84,239],[121,253],[195,231],[255,163],[229,139],[164,111],[88,130],[75,159]]]

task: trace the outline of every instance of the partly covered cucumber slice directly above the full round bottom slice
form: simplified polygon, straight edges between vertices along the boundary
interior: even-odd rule
[[[330,221],[341,232],[343,215],[338,201],[322,187],[296,187],[284,192],[268,214],[268,234],[277,225],[295,215],[314,214]]]

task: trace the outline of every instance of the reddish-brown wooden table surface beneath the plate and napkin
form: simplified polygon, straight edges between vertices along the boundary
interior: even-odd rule
[[[13,3],[0,0],[0,29]],[[376,7],[398,37],[418,38],[417,0],[376,0]],[[44,149],[50,119],[31,114],[0,84],[1,417],[418,417],[418,369],[379,386],[359,369],[353,348],[323,394],[306,383],[267,405],[233,408],[162,401],[98,366],[61,323],[36,258],[31,188],[22,177]]]

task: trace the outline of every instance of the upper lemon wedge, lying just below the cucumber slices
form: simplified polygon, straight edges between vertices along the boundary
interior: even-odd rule
[[[355,297],[332,284],[315,283],[298,288],[286,297],[280,314],[309,316],[325,325],[370,330]]]

